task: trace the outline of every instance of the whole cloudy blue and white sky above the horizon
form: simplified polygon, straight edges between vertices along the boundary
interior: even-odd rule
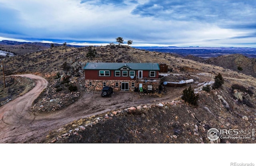
[[[0,40],[117,37],[132,46],[256,47],[256,0],[0,0]]]

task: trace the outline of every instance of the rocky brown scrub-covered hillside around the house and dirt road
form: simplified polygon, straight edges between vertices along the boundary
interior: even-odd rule
[[[103,115],[74,121],[59,130],[51,131],[43,142],[208,143],[210,141],[206,132],[209,128],[248,130],[256,127],[256,79],[252,76],[212,64],[183,59],[177,54],[139,50],[122,45],[93,48],[96,49],[97,55],[92,60],[86,57],[89,47],[65,46],[6,57],[6,75],[34,73],[45,77],[49,85],[34,101],[32,108],[35,112],[51,113],[75,104],[81,95],[88,93],[83,86],[82,72],[82,67],[88,61],[166,63],[172,71],[169,74],[174,75],[176,79],[183,79],[185,76],[195,78],[192,87],[199,94],[198,105],[192,106],[182,101],[181,93],[178,93],[173,101],[130,105],[126,109],[117,108]],[[234,68],[240,65],[244,71],[250,61],[246,62],[237,57],[239,56],[232,57]],[[213,81],[218,73],[224,78],[222,87],[210,92],[202,91],[205,83]],[[175,89],[169,88],[168,91],[171,93]],[[161,99],[161,95],[158,97]],[[254,140],[220,139],[216,142],[252,143]]]

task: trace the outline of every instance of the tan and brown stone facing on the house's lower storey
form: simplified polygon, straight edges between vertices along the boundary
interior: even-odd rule
[[[92,82],[92,85],[89,85],[89,82]],[[89,90],[98,90],[101,91],[103,88],[103,82],[106,82],[106,86],[113,87],[114,91],[121,90],[121,82],[129,83],[129,91],[134,91],[134,87],[139,87],[139,83],[136,80],[85,80],[85,87]],[[116,87],[116,82],[118,82],[118,87]],[[135,83],[134,87],[131,87],[132,82]],[[158,83],[142,83],[143,89],[148,89],[148,85],[153,86],[153,90],[159,88]]]

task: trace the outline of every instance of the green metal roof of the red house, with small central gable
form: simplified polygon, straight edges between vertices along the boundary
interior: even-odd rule
[[[84,70],[118,70],[128,67],[131,70],[160,70],[158,63],[97,63],[88,62]]]

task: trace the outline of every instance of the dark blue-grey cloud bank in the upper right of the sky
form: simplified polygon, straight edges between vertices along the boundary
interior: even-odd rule
[[[256,1],[234,0],[150,0],[138,5],[132,14],[163,20],[198,21],[216,23],[219,26],[255,24]]]

